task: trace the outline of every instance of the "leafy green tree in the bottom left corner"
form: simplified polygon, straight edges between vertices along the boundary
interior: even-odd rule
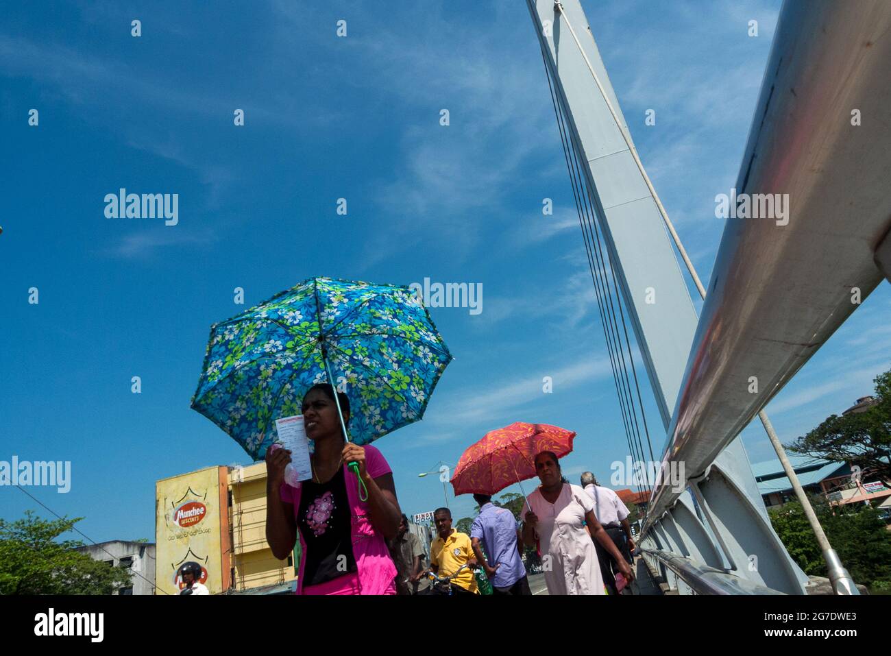
[[[0,519],[0,594],[111,594],[130,585],[126,569],[75,551],[79,540],[56,541],[82,519],[46,521],[31,511]]]

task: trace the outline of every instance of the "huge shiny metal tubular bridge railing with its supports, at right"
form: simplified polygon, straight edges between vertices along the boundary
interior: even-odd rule
[[[685,480],[653,489],[642,531],[647,548],[785,592],[800,570],[763,504],[745,504],[744,454],[727,448],[883,280],[889,132],[857,117],[891,103],[891,43],[872,50],[888,29],[887,3],[783,4],[732,195],[785,209],[726,219],[667,431],[663,469],[683,464]]]

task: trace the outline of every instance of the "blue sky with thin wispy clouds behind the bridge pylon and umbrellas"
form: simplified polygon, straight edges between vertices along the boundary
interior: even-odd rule
[[[723,230],[715,194],[736,180],[780,4],[583,0],[643,163],[704,281]],[[5,8],[0,460],[70,460],[68,494],[29,491],[86,516],[78,526],[95,540],[153,539],[155,480],[247,461],[189,408],[208,328],[313,275],[483,285],[479,315],[430,310],[456,359],[425,419],[376,443],[405,512],[442,503],[437,478],[418,472],[456,463],[513,421],[576,430],[564,462],[573,480],[585,469],[608,479],[609,463],[624,460],[525,6],[375,7]],[[142,37],[130,36],[134,19]],[[336,36],[340,19],[347,37]],[[644,126],[650,108],[654,127]],[[244,127],[233,126],[235,109]],[[120,187],[178,193],[178,224],[105,218],[103,198]],[[233,304],[235,287],[245,306]],[[782,439],[871,392],[891,365],[889,310],[882,283],[768,406]],[[758,426],[744,436],[753,462],[772,457]],[[663,441],[654,434],[654,448]],[[470,497],[449,500],[455,517],[470,514]],[[33,507],[0,488],[5,519]]]

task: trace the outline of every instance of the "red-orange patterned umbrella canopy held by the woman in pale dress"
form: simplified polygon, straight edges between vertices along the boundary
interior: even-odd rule
[[[494,495],[513,483],[535,476],[535,455],[553,451],[558,458],[572,452],[574,430],[547,423],[511,423],[487,432],[468,447],[452,477],[455,496]]]

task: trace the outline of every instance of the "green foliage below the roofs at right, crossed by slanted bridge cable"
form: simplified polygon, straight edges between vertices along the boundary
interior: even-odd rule
[[[813,512],[829,538],[830,545],[856,583],[873,592],[887,590],[891,582],[891,533],[879,512],[866,504],[830,505],[823,496],[811,496]],[[805,574],[827,576],[820,546],[797,501],[772,508],[773,529],[789,555]]]

